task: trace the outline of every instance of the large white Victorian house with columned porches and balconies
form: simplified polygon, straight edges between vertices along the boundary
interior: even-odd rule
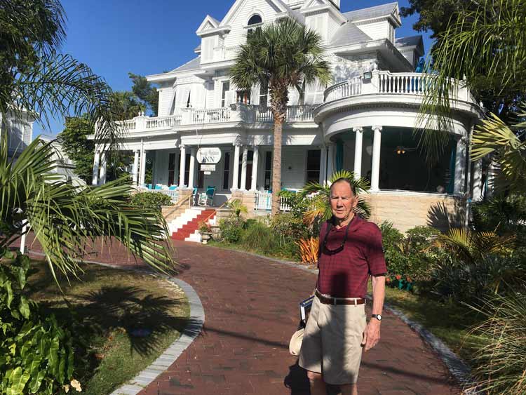
[[[159,116],[123,122],[121,148],[135,154],[134,182],[144,185],[151,163],[158,188],[201,192],[213,186],[215,206],[239,196],[251,213],[268,212],[273,117],[267,88],[240,91],[229,69],[250,29],[290,17],[321,35],[333,85],[309,86],[303,103],[290,91],[282,188],[302,189],[335,170],[353,170],[371,181],[371,220],[389,220],[400,230],[463,221],[466,196],[477,198],[482,187],[480,164],[466,157],[478,105],[459,88],[451,103],[450,147],[436,166],[426,165],[413,136],[422,124],[424,74],[414,72],[424,55],[422,36],[396,36],[397,3],[347,13],[339,6],[339,0],[236,0],[221,20],[205,16],[195,57],[147,76],[159,86]],[[207,147],[220,156],[203,167],[196,153]],[[104,181],[104,154],[97,151],[93,183]]]

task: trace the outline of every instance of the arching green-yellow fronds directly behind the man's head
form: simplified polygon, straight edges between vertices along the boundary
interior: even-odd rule
[[[303,217],[306,224],[311,225],[313,222],[316,222],[316,220],[324,221],[332,217],[332,210],[330,208],[330,185],[340,178],[349,180],[356,191],[358,205],[354,209],[354,212],[365,219],[369,217],[371,214],[369,204],[360,196],[360,194],[369,190],[369,182],[365,178],[356,179],[352,171],[340,170],[332,174],[329,178],[328,185],[321,185],[319,182],[309,182],[309,184],[303,187],[302,196],[308,196],[309,194],[317,195],[312,199],[309,210],[306,210],[304,213]]]

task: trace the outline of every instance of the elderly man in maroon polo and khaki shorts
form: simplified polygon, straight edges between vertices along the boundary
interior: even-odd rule
[[[351,182],[330,187],[332,218],[320,232],[318,282],[307,321],[299,366],[307,371],[311,394],[326,394],[325,383],[342,395],[357,395],[362,348],[380,339],[386,264],[377,225],[354,214],[358,204]],[[372,276],[372,316],[367,324],[365,294]]]

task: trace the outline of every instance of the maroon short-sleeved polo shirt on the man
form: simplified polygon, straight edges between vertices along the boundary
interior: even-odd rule
[[[369,276],[387,272],[382,248],[382,233],[372,222],[356,215],[349,226],[344,249],[334,255],[323,253],[323,239],[329,222],[320,232],[321,255],[318,259],[318,290],[333,297],[365,297]],[[342,245],[346,227],[330,227],[327,247],[335,250]]]

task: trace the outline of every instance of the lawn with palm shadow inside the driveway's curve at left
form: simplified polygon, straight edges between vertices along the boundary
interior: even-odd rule
[[[76,350],[83,394],[110,394],[146,368],[178,337],[189,317],[182,290],[149,274],[83,266],[80,280],[60,279],[65,299],[48,267],[34,262],[28,294],[43,314],[71,323],[87,348]],[[68,303],[69,306],[68,307]]]

